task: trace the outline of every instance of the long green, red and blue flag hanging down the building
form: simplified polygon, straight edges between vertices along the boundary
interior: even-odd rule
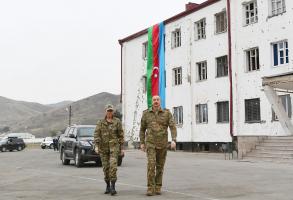
[[[152,97],[160,96],[161,107],[165,100],[165,27],[163,22],[148,29],[147,104],[152,106]]]

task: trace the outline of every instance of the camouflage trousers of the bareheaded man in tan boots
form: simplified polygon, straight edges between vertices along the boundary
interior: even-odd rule
[[[148,188],[155,189],[162,187],[164,165],[167,156],[167,149],[147,148],[147,178]]]

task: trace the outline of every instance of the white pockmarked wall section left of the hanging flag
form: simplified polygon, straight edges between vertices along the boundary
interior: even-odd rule
[[[142,58],[142,44],[147,36],[123,44],[122,114],[126,140],[138,141],[142,111],[147,108],[144,79],[146,60]]]

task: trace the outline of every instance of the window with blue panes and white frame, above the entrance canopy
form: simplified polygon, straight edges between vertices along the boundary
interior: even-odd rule
[[[274,66],[289,63],[288,41],[273,43]]]

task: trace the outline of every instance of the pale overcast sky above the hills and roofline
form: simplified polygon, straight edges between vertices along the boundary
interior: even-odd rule
[[[187,2],[0,0],[0,96],[49,104],[119,94],[118,39]]]

